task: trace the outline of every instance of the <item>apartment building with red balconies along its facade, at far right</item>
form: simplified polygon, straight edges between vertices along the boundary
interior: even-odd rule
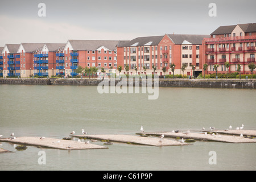
[[[203,40],[204,62],[208,73],[215,73],[213,65],[218,64],[218,73],[227,73],[225,62],[230,63],[229,72],[237,72],[241,64],[242,74],[250,74],[249,63],[255,63],[256,23],[221,26]]]

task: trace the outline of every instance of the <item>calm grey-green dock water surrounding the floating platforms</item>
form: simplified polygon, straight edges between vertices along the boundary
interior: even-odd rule
[[[256,129],[256,92],[250,89],[159,88],[148,94],[99,94],[96,86],[0,85],[0,134],[9,137],[68,137],[145,131]],[[77,139],[75,139],[77,140]],[[103,146],[102,142],[96,142]],[[192,146],[152,147],[114,143],[104,150],[65,151],[28,146],[0,154],[0,170],[255,170],[255,143],[195,142]],[[39,151],[46,165],[39,165]],[[209,164],[216,151],[217,164]]]

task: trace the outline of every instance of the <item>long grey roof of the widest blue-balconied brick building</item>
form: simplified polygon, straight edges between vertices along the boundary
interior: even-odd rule
[[[68,40],[74,50],[96,50],[101,46],[115,50],[119,40]]]

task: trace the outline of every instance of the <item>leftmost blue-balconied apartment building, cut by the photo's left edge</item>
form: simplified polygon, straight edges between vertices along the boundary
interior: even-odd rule
[[[20,55],[17,53],[19,44],[5,44],[2,49],[2,74],[7,76],[20,76]],[[1,67],[1,66],[0,66]]]

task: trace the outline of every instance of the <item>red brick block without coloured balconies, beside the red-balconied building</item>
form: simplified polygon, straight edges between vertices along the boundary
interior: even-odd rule
[[[204,38],[209,35],[179,35],[166,34],[163,36],[148,36],[136,38],[130,41],[121,41],[117,46],[117,66],[122,66],[122,73],[135,75],[153,74],[152,66],[157,67],[156,74],[164,75],[162,69],[167,67],[166,74],[171,74],[170,63],[175,64],[175,74],[183,74],[181,66],[187,65],[184,75],[192,75],[191,65],[195,65],[197,75],[203,69],[203,47]],[[125,66],[129,65],[129,71]],[[143,69],[146,67],[146,72]]]

